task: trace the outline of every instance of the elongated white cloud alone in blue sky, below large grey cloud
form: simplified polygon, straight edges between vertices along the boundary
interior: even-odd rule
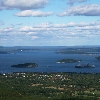
[[[24,10],[20,13],[17,13],[15,16],[18,17],[47,17],[52,15],[53,12],[42,12],[40,10],[38,11],[32,11],[32,10]]]

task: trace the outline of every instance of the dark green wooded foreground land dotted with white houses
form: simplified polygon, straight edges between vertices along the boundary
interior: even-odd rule
[[[0,100],[100,100],[100,74],[0,74]]]

